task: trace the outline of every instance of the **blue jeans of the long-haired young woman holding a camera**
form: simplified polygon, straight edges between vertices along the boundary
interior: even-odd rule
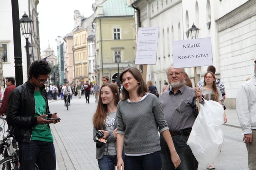
[[[104,155],[103,158],[98,159],[98,167],[100,170],[115,170],[115,162],[117,156]]]

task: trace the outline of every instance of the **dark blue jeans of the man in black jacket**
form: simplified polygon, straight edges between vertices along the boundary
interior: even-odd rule
[[[35,170],[35,163],[39,170],[55,170],[56,157],[53,142],[31,141],[18,142],[19,170]]]

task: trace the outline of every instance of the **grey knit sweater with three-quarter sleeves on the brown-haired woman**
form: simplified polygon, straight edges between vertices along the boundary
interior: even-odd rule
[[[126,154],[160,151],[160,133],[168,130],[160,100],[153,94],[138,102],[120,101],[117,106],[117,133],[124,134]]]

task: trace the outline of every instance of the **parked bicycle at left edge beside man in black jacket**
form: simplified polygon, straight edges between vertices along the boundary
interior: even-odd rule
[[[14,138],[12,134],[12,130],[8,128],[6,129],[6,118],[0,116],[3,120],[0,125],[0,131],[3,131],[2,140],[0,140],[0,170],[18,170],[18,149],[13,148],[11,138]],[[8,132],[8,135],[5,136],[5,132]]]

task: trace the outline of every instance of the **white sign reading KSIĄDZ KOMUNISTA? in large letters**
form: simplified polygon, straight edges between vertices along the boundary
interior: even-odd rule
[[[213,65],[211,38],[172,42],[174,68]]]

